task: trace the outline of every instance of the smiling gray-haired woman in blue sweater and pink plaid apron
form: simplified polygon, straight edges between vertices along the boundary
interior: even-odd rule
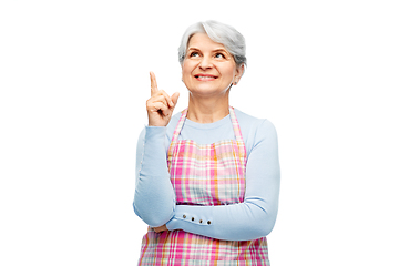
[[[137,144],[133,207],[149,225],[139,265],[269,265],[266,235],[279,194],[277,135],[229,106],[246,65],[234,28],[191,25],[178,49],[188,108],[151,76],[149,126]]]

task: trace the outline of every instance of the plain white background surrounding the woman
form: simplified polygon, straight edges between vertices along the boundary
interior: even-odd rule
[[[0,264],[136,265],[149,71],[184,109],[181,35],[215,19],[247,41],[232,105],[277,127],[272,265],[399,265],[396,2],[1,1]]]

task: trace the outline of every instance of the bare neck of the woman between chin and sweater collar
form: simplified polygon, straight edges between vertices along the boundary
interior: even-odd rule
[[[198,99],[190,94],[187,119],[201,124],[214,123],[229,114],[228,108],[228,93],[216,99]]]

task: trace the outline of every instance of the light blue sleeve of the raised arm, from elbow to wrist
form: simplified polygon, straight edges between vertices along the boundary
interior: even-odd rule
[[[146,126],[137,143],[133,209],[151,227],[162,226],[170,221],[175,207],[165,142],[165,126]]]

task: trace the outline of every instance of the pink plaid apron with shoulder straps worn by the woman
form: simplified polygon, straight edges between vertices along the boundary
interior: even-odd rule
[[[236,140],[197,144],[192,140],[178,141],[187,115],[187,110],[183,111],[167,154],[177,205],[227,205],[244,201],[246,149],[233,108],[229,113]],[[267,241],[266,237],[221,241],[181,229],[155,233],[149,228],[139,265],[269,265]]]

